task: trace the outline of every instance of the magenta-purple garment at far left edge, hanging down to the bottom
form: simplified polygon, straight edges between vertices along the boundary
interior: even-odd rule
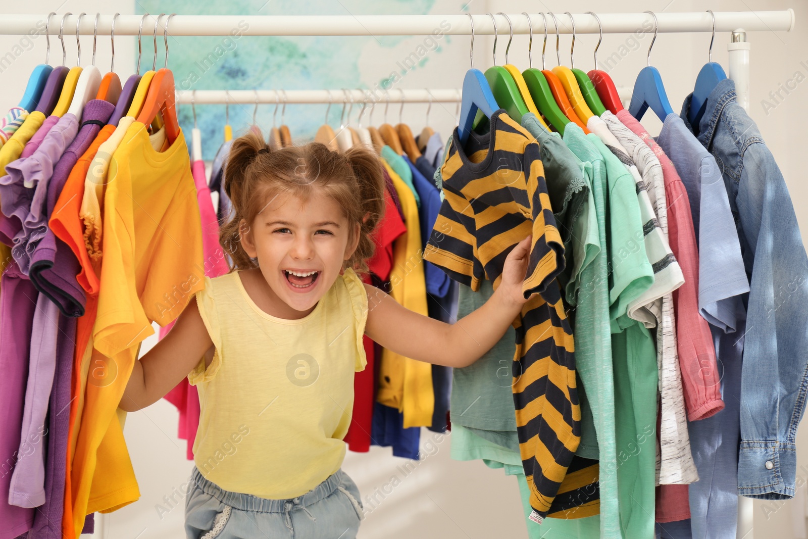
[[[14,260],[8,263],[0,283],[0,539],[13,539],[27,532],[34,521],[33,509],[8,503],[8,491],[19,457],[29,347],[39,293]],[[28,442],[32,446],[43,440]]]

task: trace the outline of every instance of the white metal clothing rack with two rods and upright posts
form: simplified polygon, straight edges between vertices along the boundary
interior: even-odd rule
[[[162,15],[162,29],[167,43],[171,36],[499,36],[513,34],[534,37],[560,34],[622,34],[649,32],[654,26],[654,16],[648,13],[605,13],[598,14],[600,23],[591,14],[556,15],[558,31],[543,14],[525,16],[512,14],[494,15]],[[713,19],[714,16],[714,19]],[[794,11],[716,11],[708,12],[657,13],[656,31],[662,33],[680,32],[732,32],[729,50],[729,77],[735,82],[738,103],[749,109],[749,50],[747,32],[785,31],[790,32],[796,20]],[[61,15],[4,15],[0,19],[0,35],[34,35],[44,33],[44,23],[48,24],[48,35],[58,36],[60,23],[64,23],[65,34],[74,32],[82,36],[109,36],[112,23],[115,23],[116,36],[142,36],[149,39],[154,34],[154,24],[158,15],[99,15],[97,22],[93,16],[85,16],[80,21],[78,15],[68,15],[62,21]],[[150,19],[150,23],[148,23]],[[508,20],[509,19],[509,20]],[[529,22],[528,22],[529,19]],[[570,21],[572,19],[572,21]],[[146,21],[146,22],[144,22]],[[570,22],[574,22],[574,29]],[[78,30],[77,30],[78,23]],[[472,31],[473,24],[473,31]],[[496,24],[496,27],[494,27]],[[546,24],[546,26],[545,26]],[[66,29],[70,30],[67,31]],[[159,32],[159,29],[158,29]],[[157,34],[154,34],[155,39]],[[457,102],[461,99],[459,90],[382,90],[382,95],[373,102],[381,103],[428,103]],[[247,103],[339,103],[353,99],[353,103],[366,103],[371,100],[372,91],[178,91],[178,103],[221,103],[231,101]],[[96,537],[105,537],[107,532],[106,515],[99,514]],[[738,537],[752,539],[751,499],[739,497]]]

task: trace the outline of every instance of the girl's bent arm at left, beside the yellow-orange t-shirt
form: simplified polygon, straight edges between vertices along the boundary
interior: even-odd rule
[[[205,356],[205,364],[209,364],[213,358],[213,341],[193,297],[168,335],[135,361],[118,406],[133,412],[157,402],[187,377],[202,356]]]

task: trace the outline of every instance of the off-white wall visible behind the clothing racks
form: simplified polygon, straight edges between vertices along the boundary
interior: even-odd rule
[[[166,2],[169,4],[170,2]],[[242,2],[244,3],[244,2]],[[274,13],[271,11],[275,4],[253,2],[250,6],[252,13],[263,9],[261,14]],[[410,13],[414,2],[401,2],[385,4],[373,11],[368,11],[360,0],[340,0],[335,2],[334,13]],[[262,6],[263,4],[263,6]],[[339,5],[338,5],[339,4]],[[431,5],[431,13],[456,14],[461,8],[461,2],[450,0],[436,0]],[[104,14],[120,11],[121,14],[134,12],[133,2],[111,2],[100,0],[29,0],[29,2],[4,3],[3,13],[41,13],[57,11],[59,15],[65,11],[74,13],[86,11],[95,15],[95,11]],[[797,218],[803,231],[808,230],[808,185],[804,183],[802,168],[805,162],[804,148],[808,139],[805,135],[806,120],[806,85],[798,85],[796,90],[785,95],[785,99],[777,99],[776,107],[764,110],[761,99],[768,98],[770,91],[777,91],[779,84],[785,84],[796,76],[797,72],[802,78],[808,75],[808,31],[804,27],[806,4],[805,2],[783,2],[763,0],[743,0],[743,2],[696,2],[694,0],[665,0],[665,2],[640,2],[638,0],[621,0],[620,2],[558,2],[547,0],[524,2],[524,0],[511,0],[508,2],[484,2],[471,0],[469,11],[473,13],[486,13],[489,11],[506,11],[519,13],[541,9],[554,11],[557,14],[564,11],[583,13],[585,11],[611,11],[611,12],[642,12],[646,9],[657,11],[747,11],[747,10],[782,10],[793,7],[797,13],[797,26],[791,33],[785,32],[751,32],[748,40],[751,41],[751,116],[758,122],[760,131],[767,141],[772,153],[775,155],[781,170],[785,175],[791,192]],[[285,11],[294,12],[293,4],[284,6]],[[384,11],[381,11],[384,10]],[[171,10],[170,6],[161,11]],[[561,19],[566,19],[561,16]],[[57,18],[54,17],[54,21]],[[533,40],[533,65],[541,62],[541,27],[535,29],[537,35]],[[507,27],[500,28],[506,32],[505,40],[500,34],[498,46],[498,63],[504,63],[504,47],[507,43]],[[65,34],[69,35],[68,29]],[[66,38],[68,57],[74,58],[75,43]],[[74,39],[74,37],[72,38]],[[181,39],[181,38],[178,38]],[[250,39],[249,37],[244,39]],[[597,36],[579,36],[576,40],[576,66],[591,69],[591,51],[594,48]],[[372,40],[357,41],[361,43],[356,50],[359,58],[359,73],[356,83],[363,82],[368,86],[383,78],[392,69],[395,61],[406,57],[415,49],[423,38],[415,37],[401,40],[393,48],[381,49]],[[727,65],[726,44],[729,41],[727,32],[720,32],[713,45],[713,61]],[[646,63],[646,48],[650,36],[642,36],[635,46],[629,36],[604,36],[604,43],[600,47],[599,57],[608,57],[620,45],[625,45],[633,52],[627,54],[615,69],[612,77],[618,86],[632,86],[638,70]],[[0,55],[11,51],[15,44],[20,44],[19,36],[0,36]],[[89,61],[91,39],[82,40],[82,61],[86,65]],[[478,37],[475,42],[475,65],[483,68],[490,64],[491,37]],[[116,71],[120,74],[130,74],[134,69],[133,51],[135,40],[133,37],[119,36],[116,39]],[[423,87],[457,87],[460,86],[465,69],[468,68],[468,37],[451,36],[443,44],[445,47],[440,53],[431,54],[429,61],[423,69],[415,69],[407,74],[399,84],[405,88]],[[663,34],[654,44],[651,60],[658,66],[663,76],[671,104],[676,111],[679,110],[684,96],[692,91],[693,82],[701,65],[707,58],[707,45],[709,34]],[[24,46],[24,44],[23,44]],[[51,40],[53,65],[60,61],[61,47],[58,40]],[[161,45],[162,46],[162,45]],[[150,47],[150,44],[149,44]],[[568,61],[570,47],[569,36],[562,36],[561,51],[562,62]],[[547,46],[546,60],[548,65],[555,65],[554,37],[551,36]],[[383,50],[383,53],[381,53]],[[148,51],[148,52],[146,52]],[[527,66],[527,37],[517,36],[511,46],[511,63],[523,67]],[[150,49],[145,52],[149,56]],[[109,59],[108,39],[99,36],[97,65],[107,65]],[[84,56],[86,55],[86,56]],[[84,60],[83,58],[86,58]],[[12,65],[2,72],[2,89],[0,89],[0,109],[15,104],[22,95],[24,84],[33,65],[44,59],[44,39],[36,41],[32,50],[23,51]],[[801,64],[806,61],[806,64]],[[70,62],[70,60],[68,61]],[[286,86],[291,88],[292,86]],[[770,103],[774,103],[769,99]],[[377,106],[374,112],[375,123],[380,123],[383,115],[383,106]],[[404,109],[404,120],[413,126],[423,124],[423,115],[426,105],[408,105]],[[198,114],[204,114],[202,107]],[[250,107],[251,113],[251,107]],[[232,114],[232,112],[231,112]],[[398,115],[398,106],[393,105],[389,110],[391,120]],[[453,125],[455,109],[452,105],[435,104],[432,107],[430,123],[440,133],[448,134]],[[333,116],[333,115],[332,115]],[[356,113],[354,115],[356,117]],[[293,118],[287,115],[288,123]],[[646,120],[647,119],[647,120]],[[659,130],[659,122],[646,115],[643,123],[652,133]],[[245,126],[241,126],[245,127]],[[234,128],[239,128],[234,125]],[[801,149],[803,148],[803,149]],[[153,343],[154,338],[148,339],[145,347]],[[126,423],[124,434],[127,438],[129,450],[133,457],[133,464],[141,486],[141,500],[124,507],[118,512],[107,516],[107,529],[103,537],[138,537],[139,539],[162,539],[182,536],[183,507],[180,506],[167,514],[158,514],[156,505],[165,503],[163,496],[172,495],[175,488],[179,488],[187,481],[191,470],[191,463],[185,460],[185,441],[175,436],[177,426],[177,413],[173,406],[167,402],[158,402],[145,411],[130,414]],[[424,438],[433,436],[431,432],[424,431]],[[806,428],[801,427],[798,432],[798,465],[808,465],[808,440]],[[360,537],[371,539],[374,537],[526,537],[524,518],[521,513],[520,499],[516,482],[513,478],[506,478],[501,470],[489,470],[482,462],[457,462],[448,457],[450,440],[438,438],[434,440],[435,451],[409,475],[402,474],[397,468],[405,461],[389,455],[389,448],[374,448],[368,454],[349,453],[344,468],[351,474],[364,495],[372,494],[389,484],[391,477],[397,475],[402,484],[393,489],[365,520]],[[804,475],[804,474],[802,474]],[[802,476],[801,476],[802,477]],[[802,477],[805,479],[805,477]],[[756,537],[805,537],[805,521],[793,512],[795,503],[805,504],[804,492],[802,501],[763,503],[755,501],[755,536]],[[175,496],[175,499],[179,499]],[[801,531],[802,530],[802,531]],[[96,533],[96,537],[100,537]],[[751,537],[747,536],[747,537]]]

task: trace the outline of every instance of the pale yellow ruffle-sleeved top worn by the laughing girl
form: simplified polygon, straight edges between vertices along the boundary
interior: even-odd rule
[[[276,318],[238,272],[205,277],[197,305],[213,360],[188,375],[200,395],[196,467],[225,491],[269,499],[305,494],[339,470],[354,372],[364,369],[368,294],[352,269],[304,318]]]

